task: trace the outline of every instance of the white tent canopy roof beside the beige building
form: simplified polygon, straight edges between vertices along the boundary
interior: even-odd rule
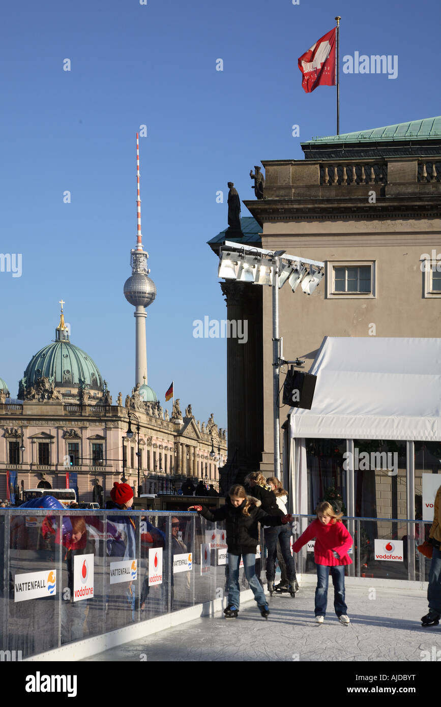
[[[325,337],[291,437],[441,441],[441,339]]]

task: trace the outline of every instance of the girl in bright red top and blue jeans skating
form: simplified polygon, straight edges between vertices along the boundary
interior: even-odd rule
[[[315,590],[315,620],[322,624],[328,603],[329,569],[334,585],[334,609],[342,624],[350,623],[345,604],[344,568],[351,565],[348,549],[353,541],[346,527],[341,522],[343,513],[335,513],[330,503],[319,503],[316,509],[317,520],[308,525],[299,539],[293,544],[293,551],[298,552],[303,545],[315,538],[314,561],[317,565],[317,588]]]

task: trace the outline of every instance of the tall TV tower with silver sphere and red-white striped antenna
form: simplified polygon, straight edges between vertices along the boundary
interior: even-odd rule
[[[146,317],[145,310],[156,297],[156,286],[148,277],[150,269],[147,267],[148,252],[143,250],[141,235],[141,199],[139,198],[139,141],[136,133],[136,211],[138,216],[138,230],[136,233],[136,248],[130,251],[131,276],[124,283],[124,297],[134,305],[136,320],[136,353],[135,353],[135,386],[147,385],[147,346],[146,346]]]

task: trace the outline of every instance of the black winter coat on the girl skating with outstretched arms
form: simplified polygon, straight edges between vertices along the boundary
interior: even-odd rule
[[[211,511],[206,506],[202,506],[202,510],[199,511],[206,520],[212,522],[225,520],[228,552],[232,555],[256,554],[259,542],[259,522],[263,525],[281,525],[281,511],[278,511],[278,515],[268,515],[258,507],[260,502],[257,498],[252,496],[248,498],[252,501],[248,508],[249,515],[242,515],[245,500],[241,506],[235,508],[233,503],[230,503],[230,498],[225,501],[225,506],[220,506],[216,510]]]

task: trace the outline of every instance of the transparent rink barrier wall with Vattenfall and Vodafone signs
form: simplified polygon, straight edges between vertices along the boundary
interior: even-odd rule
[[[293,542],[314,518],[294,516]],[[428,579],[430,561],[416,545],[430,522],[343,520],[354,538],[348,576]],[[375,539],[396,544],[396,537],[402,559],[376,560]],[[195,513],[9,508],[0,511],[0,547],[1,650],[20,650],[22,660],[227,593],[223,524]],[[298,574],[315,574],[313,547],[295,561]],[[240,588],[248,588],[243,569]]]

